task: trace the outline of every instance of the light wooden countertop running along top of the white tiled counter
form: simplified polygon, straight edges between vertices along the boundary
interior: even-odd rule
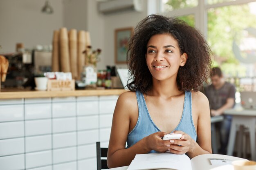
[[[76,90],[76,91],[33,91],[33,90],[4,90],[0,91],[0,99],[71,97],[71,96],[102,96],[120,95],[124,89]]]

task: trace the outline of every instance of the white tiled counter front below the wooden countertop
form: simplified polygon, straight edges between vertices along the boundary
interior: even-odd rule
[[[96,170],[117,98],[0,99],[0,170]]]

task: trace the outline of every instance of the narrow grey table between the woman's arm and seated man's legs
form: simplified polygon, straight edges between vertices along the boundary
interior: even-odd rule
[[[223,115],[211,117],[211,146],[212,146],[212,151],[215,154],[218,153],[215,123],[223,121],[223,120],[224,120]]]

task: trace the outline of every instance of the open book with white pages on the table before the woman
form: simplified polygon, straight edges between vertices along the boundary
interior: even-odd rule
[[[242,158],[218,154],[198,155],[189,159],[186,155],[175,155],[170,152],[138,154],[127,170],[233,170],[232,161]],[[222,169],[221,168],[221,169]]]

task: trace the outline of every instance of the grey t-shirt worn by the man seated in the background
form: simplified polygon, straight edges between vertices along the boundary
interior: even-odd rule
[[[234,98],[236,95],[236,88],[233,84],[225,82],[225,84],[218,90],[211,84],[205,89],[205,95],[209,100],[210,109],[217,110],[223,106],[228,98]]]

